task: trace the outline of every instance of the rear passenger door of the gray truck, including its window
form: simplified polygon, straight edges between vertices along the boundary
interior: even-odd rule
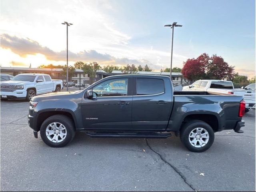
[[[173,104],[171,82],[168,78],[134,78],[132,100],[132,129],[165,130]]]

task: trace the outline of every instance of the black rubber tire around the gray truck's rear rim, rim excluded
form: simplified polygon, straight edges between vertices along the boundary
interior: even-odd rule
[[[199,148],[193,146],[190,143],[190,140],[193,140],[193,139],[189,138],[189,136],[190,136],[190,133],[195,128],[204,128],[208,132],[208,135],[209,135],[209,140],[208,140],[207,144],[202,146],[202,147],[199,147]],[[198,137],[198,136],[196,136],[196,137]],[[188,150],[190,150],[192,152],[198,152],[198,153],[199,152],[204,152],[204,151],[208,150],[212,146],[212,144],[214,142],[214,130],[212,129],[212,127],[209,124],[207,124],[204,121],[201,121],[201,120],[191,120],[190,122],[187,122],[186,124],[184,124],[184,126],[182,127],[182,129],[180,131],[180,140],[184,144],[184,146],[186,148],[188,148]],[[196,144],[199,143],[199,140],[200,140],[200,137],[198,138],[198,141],[196,141]],[[206,139],[204,139],[203,142],[205,140]]]

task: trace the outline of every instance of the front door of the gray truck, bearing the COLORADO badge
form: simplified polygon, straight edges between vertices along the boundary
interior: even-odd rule
[[[93,99],[82,98],[82,118],[87,130],[130,130],[132,77],[108,78],[92,88]]]

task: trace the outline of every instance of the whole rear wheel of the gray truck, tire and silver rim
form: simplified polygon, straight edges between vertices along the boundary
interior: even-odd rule
[[[180,140],[188,150],[192,152],[204,152],[214,142],[214,131],[206,122],[192,120],[182,127]]]

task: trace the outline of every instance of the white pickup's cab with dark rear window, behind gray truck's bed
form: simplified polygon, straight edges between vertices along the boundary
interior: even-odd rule
[[[207,91],[215,94],[234,94],[232,81],[198,80],[192,85],[184,86],[183,91]]]

